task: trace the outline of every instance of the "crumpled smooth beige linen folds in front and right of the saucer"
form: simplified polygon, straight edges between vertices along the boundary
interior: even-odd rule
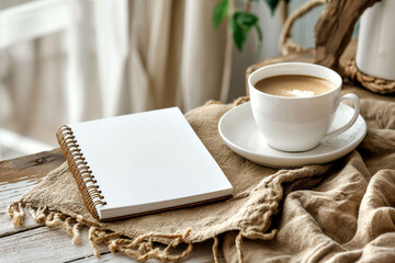
[[[368,123],[362,144],[320,182],[284,188],[281,214],[272,218],[278,235],[244,239],[245,262],[395,262],[395,103],[361,100],[361,114]],[[235,231],[223,237],[228,263],[238,262],[236,238]]]

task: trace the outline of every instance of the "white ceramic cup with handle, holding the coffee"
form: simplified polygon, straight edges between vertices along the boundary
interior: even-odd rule
[[[336,88],[306,98],[271,95],[255,88],[259,80],[281,75],[318,77],[329,80]],[[341,84],[337,72],[314,64],[274,64],[252,72],[248,78],[252,115],[268,145],[283,151],[306,151],[350,128],[360,113],[360,101],[352,93],[340,96]],[[353,116],[342,127],[328,133],[336,110],[343,100],[352,102]]]

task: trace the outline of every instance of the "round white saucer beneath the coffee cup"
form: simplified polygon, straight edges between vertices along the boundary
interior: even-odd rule
[[[353,108],[341,103],[330,130],[346,124]],[[225,144],[238,155],[268,167],[303,167],[334,161],[352,151],[366,135],[366,123],[361,115],[345,133],[323,140],[316,148],[303,152],[286,152],[271,148],[258,130],[250,102],[228,111],[218,123],[219,135]]]

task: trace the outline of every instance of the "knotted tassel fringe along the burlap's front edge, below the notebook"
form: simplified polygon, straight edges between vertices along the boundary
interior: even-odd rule
[[[185,241],[191,233],[191,229],[187,229],[184,232],[177,231],[173,235],[159,235],[151,232],[140,235],[135,239],[129,239],[123,238],[121,233],[110,232],[99,228],[98,226],[92,226],[92,224],[84,220],[82,216],[66,216],[61,213],[49,211],[47,207],[34,208],[32,205],[23,204],[22,202],[14,202],[8,208],[12,226],[15,228],[23,226],[24,207],[30,211],[35,222],[44,224],[47,227],[63,228],[71,237],[71,242],[74,244],[81,243],[81,227],[89,227],[88,239],[97,258],[100,258],[100,251],[97,244],[101,243],[106,244],[111,253],[120,251],[138,261],[158,259],[162,262],[177,262],[188,256],[193,249],[192,242]],[[165,249],[155,248],[155,240],[158,239],[166,240],[165,242],[168,244]],[[176,248],[181,243],[187,243],[188,247],[180,254],[169,254],[172,248]]]

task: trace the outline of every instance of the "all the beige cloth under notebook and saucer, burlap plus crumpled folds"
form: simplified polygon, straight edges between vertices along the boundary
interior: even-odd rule
[[[222,141],[218,119],[234,106],[210,102],[185,115],[234,185],[230,199],[99,222],[64,163],[10,205],[14,226],[30,210],[36,221],[63,227],[75,243],[88,226],[97,255],[95,244],[106,243],[142,261],[178,261],[193,243],[212,239],[216,261],[223,243],[227,262],[395,262],[395,103],[362,100],[369,132],[348,156],[280,170],[255,164]]]

